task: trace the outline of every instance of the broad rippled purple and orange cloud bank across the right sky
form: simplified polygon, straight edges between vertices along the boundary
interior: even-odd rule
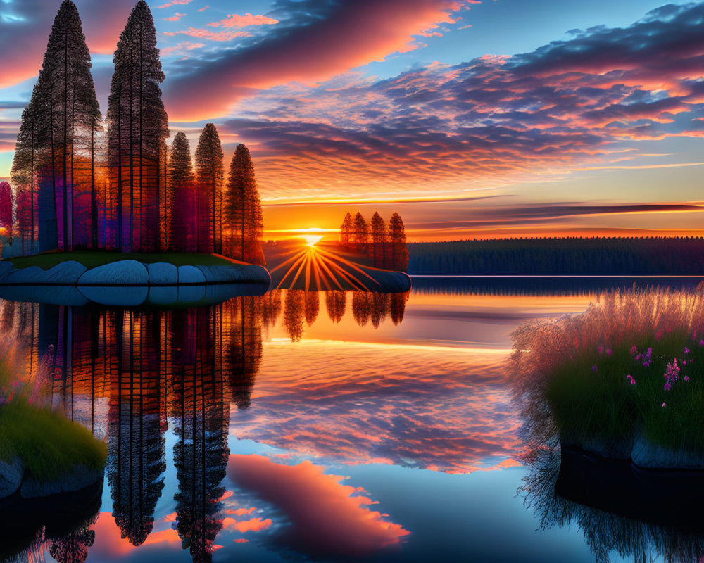
[[[662,14],[532,53],[434,63],[387,80],[350,73],[317,87],[242,90],[249,97],[230,108],[239,117],[218,127],[251,146],[261,185],[275,186],[263,190],[268,199],[417,198],[570,172],[698,165],[622,153],[624,142],[704,137],[704,4]],[[238,76],[248,72],[245,65]],[[209,107],[222,110],[203,99],[201,109]]]

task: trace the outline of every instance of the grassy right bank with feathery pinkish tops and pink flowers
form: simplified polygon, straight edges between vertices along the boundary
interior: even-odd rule
[[[547,401],[561,438],[631,440],[704,452],[704,291],[611,292],[580,315],[513,334],[526,395]]]

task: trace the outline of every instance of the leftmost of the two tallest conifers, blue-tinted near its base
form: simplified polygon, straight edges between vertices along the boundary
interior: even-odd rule
[[[39,196],[39,250],[70,250],[73,199],[84,179],[76,165],[92,158],[88,132],[101,120],[90,73],[91,61],[81,20],[73,1],[64,0],[51,27],[42,71],[23,113],[19,154],[13,164],[18,190],[30,191],[30,241],[34,241],[34,194]],[[86,179],[89,186],[90,179]],[[79,184],[79,185],[77,185]],[[86,188],[87,189],[87,188]],[[21,198],[23,204],[26,196]],[[61,229],[57,206],[61,201]],[[25,217],[23,217],[24,219]],[[23,224],[27,224],[23,220]],[[60,236],[59,236],[60,235]],[[30,251],[33,250],[30,242]]]

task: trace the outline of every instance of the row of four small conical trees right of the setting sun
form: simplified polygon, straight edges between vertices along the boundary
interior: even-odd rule
[[[348,250],[367,255],[374,267],[397,272],[408,270],[406,227],[398,213],[391,215],[388,224],[375,213],[367,224],[361,213],[357,212],[353,219],[348,212],[340,227],[339,241]]]

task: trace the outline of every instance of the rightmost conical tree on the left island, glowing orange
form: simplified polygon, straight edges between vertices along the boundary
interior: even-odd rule
[[[226,205],[230,255],[245,262],[263,263],[259,245],[264,230],[261,201],[249,148],[243,144],[237,145],[232,155]]]

